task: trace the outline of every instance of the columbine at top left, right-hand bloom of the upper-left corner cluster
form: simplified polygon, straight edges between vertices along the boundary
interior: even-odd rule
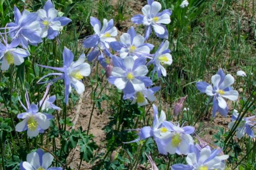
[[[57,17],[58,11],[54,8],[51,0],[47,0],[44,4],[44,9],[39,9],[37,13],[42,28],[42,38],[54,39],[59,35],[61,27],[71,22],[67,17]]]

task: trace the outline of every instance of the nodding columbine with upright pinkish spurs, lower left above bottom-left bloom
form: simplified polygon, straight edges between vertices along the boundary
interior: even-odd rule
[[[15,127],[15,130],[22,132],[27,130],[27,135],[29,137],[35,137],[39,133],[44,133],[44,130],[47,130],[50,126],[50,119],[53,118],[52,115],[41,113],[38,111],[38,106],[34,103],[29,103],[29,96],[26,92],[26,107],[22,104],[19,99],[21,106],[26,110],[26,112],[18,114],[18,118],[24,119],[18,123]]]

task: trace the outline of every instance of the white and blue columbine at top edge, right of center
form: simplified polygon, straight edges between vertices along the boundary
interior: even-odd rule
[[[146,26],[145,39],[147,40],[152,30],[151,26],[156,33],[156,36],[160,38],[168,38],[168,31],[162,24],[168,24],[171,22],[171,11],[168,9],[159,13],[162,6],[159,2],[154,0],[147,0],[147,5],[142,8],[142,14],[137,14],[132,17],[132,22],[135,24],[143,24]]]

